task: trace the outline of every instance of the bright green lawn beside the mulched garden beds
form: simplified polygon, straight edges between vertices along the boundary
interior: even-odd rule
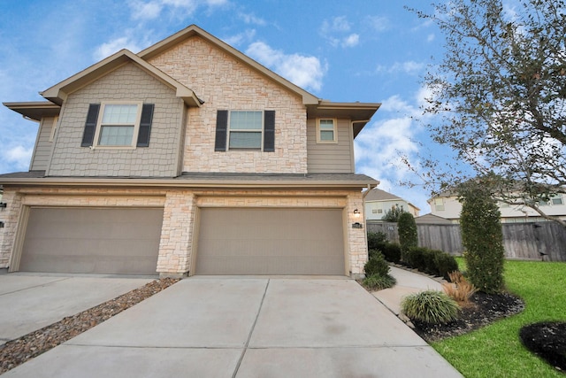
[[[467,378],[564,378],[565,374],[526,350],[518,333],[534,322],[566,321],[566,263],[507,261],[505,282],[510,292],[524,299],[524,312],[432,346]]]

